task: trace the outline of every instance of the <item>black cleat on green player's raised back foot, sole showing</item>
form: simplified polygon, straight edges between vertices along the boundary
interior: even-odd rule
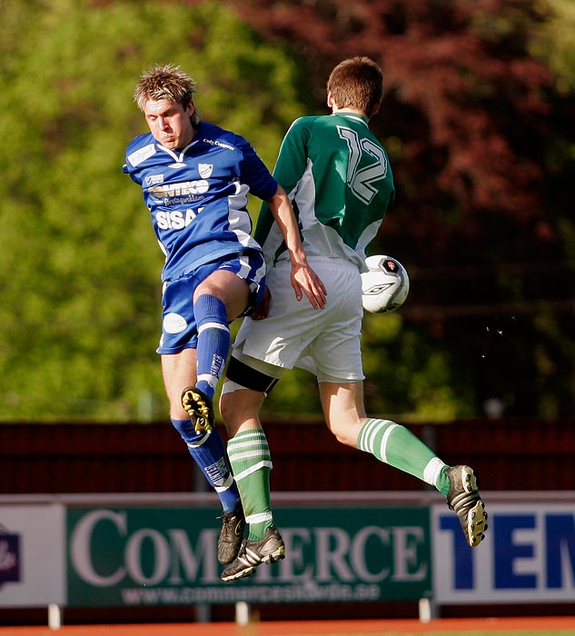
[[[447,505],[459,517],[465,539],[474,548],[483,541],[487,530],[487,512],[475,473],[469,466],[451,466],[447,476],[450,479]]]

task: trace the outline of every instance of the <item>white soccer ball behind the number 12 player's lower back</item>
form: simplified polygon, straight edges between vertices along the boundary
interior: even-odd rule
[[[402,306],[410,291],[407,270],[391,256],[368,256],[369,272],[362,273],[363,309],[372,313],[391,313]]]

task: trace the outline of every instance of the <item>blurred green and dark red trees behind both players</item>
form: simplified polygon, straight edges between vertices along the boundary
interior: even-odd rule
[[[167,417],[163,255],[124,149],[139,75],[195,77],[203,118],[270,168],[348,55],[386,80],[397,196],[372,253],[407,267],[364,322],[371,414],[575,415],[573,0],[0,0],[0,421]],[[258,203],[252,202],[255,219]],[[235,325],[234,329],[237,328]],[[294,372],[269,416],[317,416]]]

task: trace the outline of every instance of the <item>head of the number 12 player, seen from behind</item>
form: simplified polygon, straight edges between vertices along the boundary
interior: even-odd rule
[[[370,57],[350,57],[332,70],[327,90],[338,108],[357,108],[371,117],[383,98],[382,69]]]

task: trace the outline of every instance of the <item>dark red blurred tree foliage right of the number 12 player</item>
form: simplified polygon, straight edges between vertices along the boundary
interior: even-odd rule
[[[308,57],[318,110],[343,57],[382,65],[387,94],[372,128],[391,154],[397,199],[372,253],[400,258],[412,284],[399,342],[364,338],[372,406],[573,414],[572,3],[230,5]],[[372,350],[403,376],[402,393]]]

